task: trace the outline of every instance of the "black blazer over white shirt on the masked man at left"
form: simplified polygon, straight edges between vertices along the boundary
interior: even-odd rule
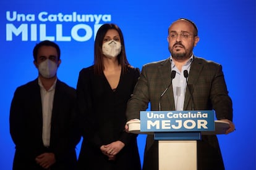
[[[15,144],[13,169],[40,169],[36,156],[53,152],[56,163],[51,169],[75,169],[75,146],[80,137],[75,129],[75,99],[73,87],[57,80],[51,118],[49,148],[42,140],[42,107],[38,79],[16,89],[10,110],[10,133]]]

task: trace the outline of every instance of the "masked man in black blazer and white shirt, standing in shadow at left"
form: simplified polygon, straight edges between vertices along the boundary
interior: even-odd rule
[[[16,89],[10,110],[15,144],[12,169],[76,169],[75,89],[59,81],[59,46],[42,41],[33,49],[38,78]]]

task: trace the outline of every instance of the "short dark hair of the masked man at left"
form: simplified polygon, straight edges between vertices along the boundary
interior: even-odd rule
[[[36,44],[36,46],[33,49],[33,57],[34,57],[35,61],[37,61],[38,50],[40,49],[41,46],[54,47],[58,53],[58,60],[61,58],[61,50],[59,49],[58,44],[56,44],[53,41],[45,40],[45,41],[41,41],[38,44]]]

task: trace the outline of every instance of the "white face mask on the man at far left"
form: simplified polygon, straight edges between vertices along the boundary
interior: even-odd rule
[[[44,78],[52,78],[57,72],[57,63],[47,59],[38,65],[38,71]]]

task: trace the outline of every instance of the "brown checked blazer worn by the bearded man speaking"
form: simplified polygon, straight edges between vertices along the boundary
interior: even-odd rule
[[[127,121],[139,119],[140,111],[158,110],[160,95],[171,83],[169,58],[143,65],[134,93],[127,103]],[[215,110],[217,119],[233,119],[233,104],[228,95],[220,64],[195,57],[191,63],[188,84],[192,87],[195,110]],[[161,110],[176,110],[173,87],[161,97]],[[192,110],[192,99],[188,87],[184,99],[184,110]],[[198,141],[198,169],[224,169],[216,136],[202,136]],[[148,135],[143,169],[158,169],[158,142]]]

